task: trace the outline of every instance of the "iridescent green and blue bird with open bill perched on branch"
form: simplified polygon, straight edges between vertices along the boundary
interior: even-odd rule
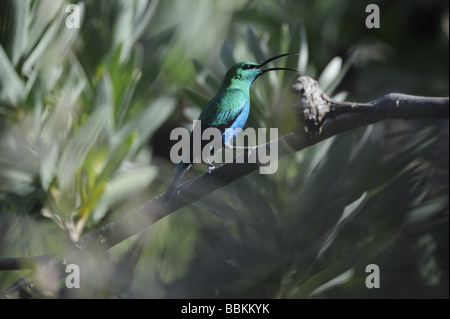
[[[201,125],[201,132],[211,127],[219,129],[222,133],[222,145],[230,147],[231,141],[247,122],[250,113],[250,86],[253,82],[268,71],[290,70],[299,72],[299,70],[293,68],[262,68],[269,62],[288,55],[298,54],[284,53],[268,58],[260,63],[240,62],[232,66],[225,74],[217,94],[206,104],[198,117],[196,125]],[[175,166],[174,177],[166,191],[167,198],[173,195],[181,178],[198,160],[198,158],[193,158],[192,136],[191,133],[190,159],[185,162],[181,160]],[[206,143],[202,141],[202,149]]]

